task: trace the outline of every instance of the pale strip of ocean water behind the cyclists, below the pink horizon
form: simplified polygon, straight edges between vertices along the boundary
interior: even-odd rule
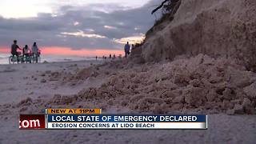
[[[10,54],[0,54],[0,65],[9,64]],[[74,61],[90,61],[95,57],[78,57],[78,56],[61,56],[61,55],[42,55],[41,62],[74,62]]]

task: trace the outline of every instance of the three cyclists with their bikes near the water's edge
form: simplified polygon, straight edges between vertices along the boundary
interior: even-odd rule
[[[33,57],[33,58],[35,58],[35,61],[38,63],[38,56],[40,55],[40,50],[38,49],[36,42],[34,42],[32,48],[30,50],[29,46],[27,46],[27,45],[25,47],[23,47],[23,49],[20,48],[17,44],[17,40],[14,40],[14,43],[11,45],[11,54],[12,54],[13,58],[14,58],[14,56],[16,56],[17,61],[19,62],[20,60],[18,57],[19,57],[20,53],[18,53],[18,50],[22,50],[22,60],[26,59],[26,61],[29,60],[31,62],[30,58]]]

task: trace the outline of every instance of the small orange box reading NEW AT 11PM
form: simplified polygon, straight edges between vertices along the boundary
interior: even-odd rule
[[[46,114],[101,114],[101,109],[46,109]]]

